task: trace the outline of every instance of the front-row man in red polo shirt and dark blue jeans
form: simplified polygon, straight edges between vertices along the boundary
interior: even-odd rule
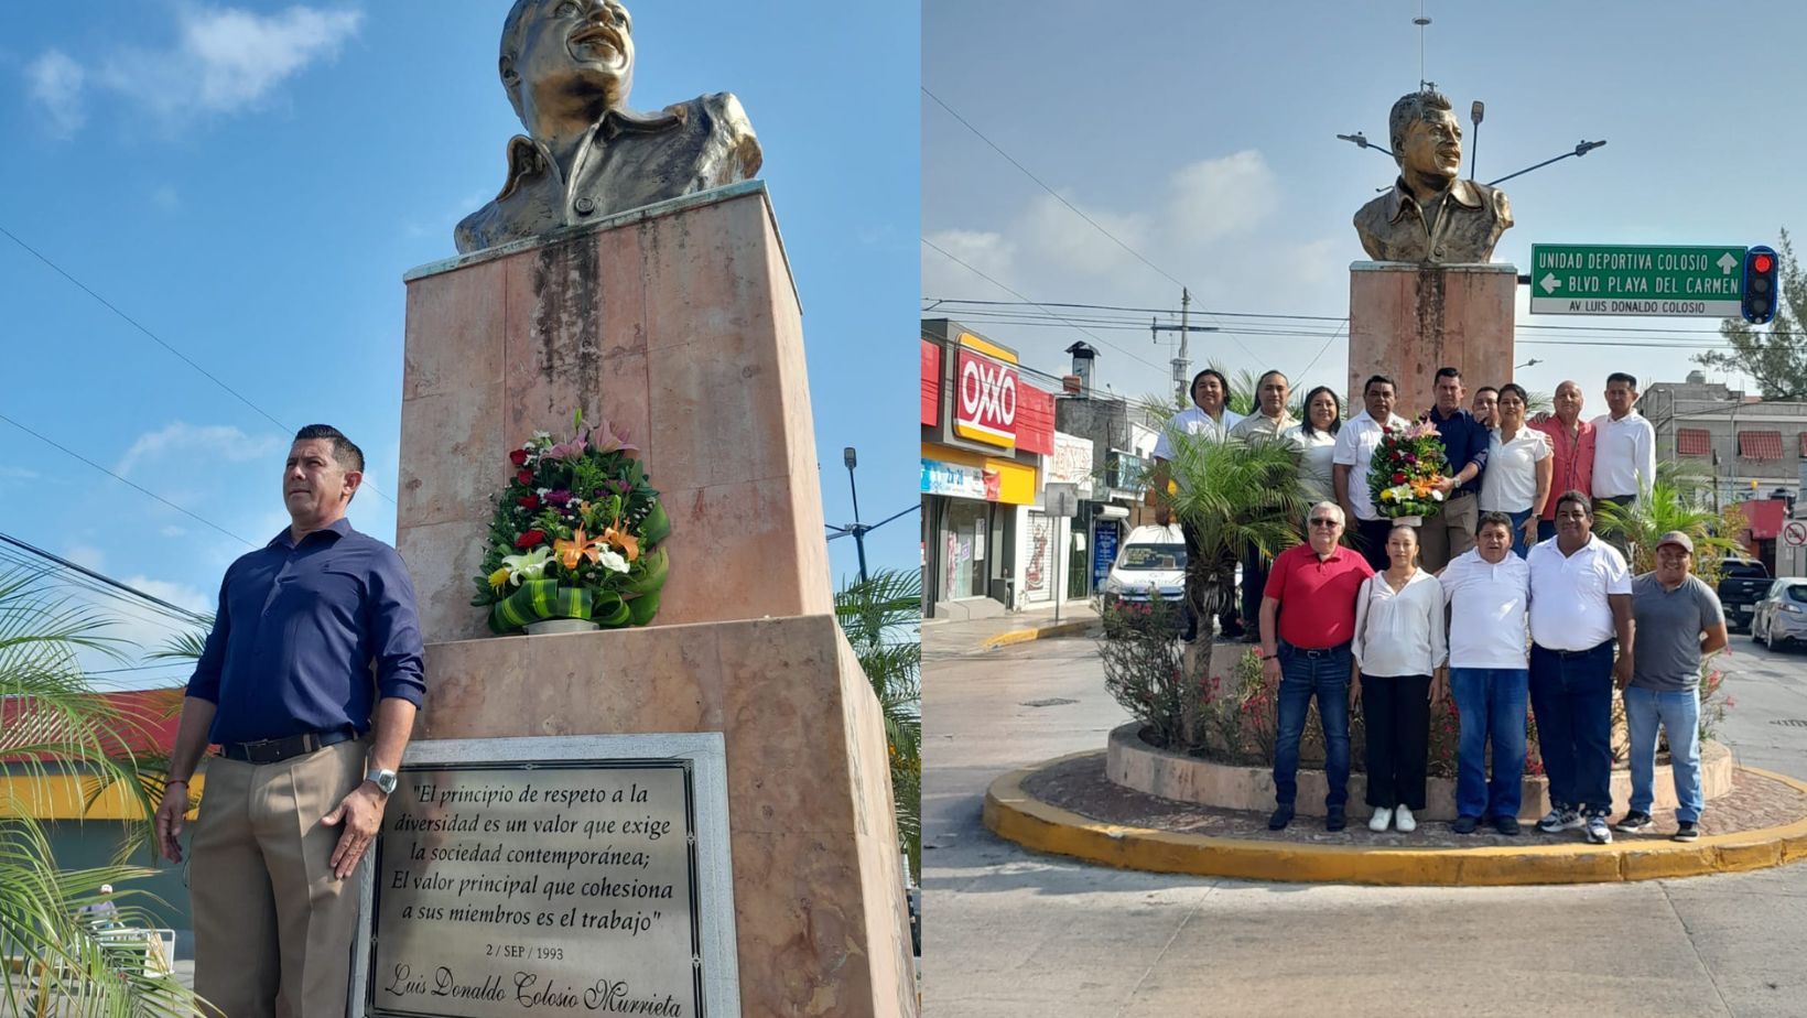
[[[1368,561],[1343,548],[1343,508],[1317,503],[1306,515],[1308,541],[1274,559],[1261,599],[1261,676],[1279,683],[1274,732],[1274,815],[1269,830],[1292,823],[1299,794],[1299,734],[1317,696],[1325,723],[1325,830],[1343,830],[1350,783],[1350,640],[1355,593],[1373,575]]]

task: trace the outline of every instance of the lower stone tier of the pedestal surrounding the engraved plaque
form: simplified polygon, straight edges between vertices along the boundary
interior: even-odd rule
[[[884,721],[826,615],[426,647],[416,738],[721,732],[741,1013],[916,1013]]]

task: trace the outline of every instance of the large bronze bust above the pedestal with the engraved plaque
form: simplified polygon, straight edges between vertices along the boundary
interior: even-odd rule
[[[656,114],[627,108],[634,42],[618,0],[515,0],[502,22],[501,71],[528,134],[508,139],[508,179],[495,201],[457,224],[461,253],[759,172],[754,125],[728,92]]]

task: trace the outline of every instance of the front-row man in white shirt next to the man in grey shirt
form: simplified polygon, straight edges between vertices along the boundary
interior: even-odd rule
[[[1614,546],[1594,537],[1594,506],[1581,492],[1556,499],[1556,537],[1536,544],[1525,564],[1531,711],[1550,781],[1550,812],[1538,830],[1587,826],[1588,841],[1608,844],[1612,693],[1615,682],[1632,680],[1632,573]]]

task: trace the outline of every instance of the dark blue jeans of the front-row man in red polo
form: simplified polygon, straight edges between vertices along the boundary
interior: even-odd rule
[[[1315,656],[1314,656],[1315,655]],[[1306,651],[1285,640],[1279,644],[1279,720],[1274,731],[1274,799],[1290,806],[1299,796],[1299,736],[1305,711],[1317,696],[1317,718],[1325,723],[1325,778],[1330,794],[1325,806],[1341,810],[1350,797],[1350,646]]]

